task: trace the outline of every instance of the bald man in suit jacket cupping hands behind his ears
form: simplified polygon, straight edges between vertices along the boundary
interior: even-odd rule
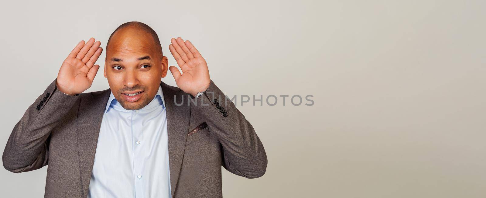
[[[3,166],[49,164],[45,197],[222,197],[221,166],[261,177],[267,157],[253,127],[192,43],[171,43],[182,73],[168,68],[152,28],[122,24],[106,45],[110,88],[90,93],[101,43],[78,43],[14,127]],[[168,69],[178,88],[161,81]]]

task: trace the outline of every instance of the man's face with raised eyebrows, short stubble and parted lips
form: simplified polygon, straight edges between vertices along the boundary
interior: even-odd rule
[[[110,89],[128,110],[148,105],[167,74],[168,60],[156,50],[152,36],[135,27],[117,31],[106,46],[104,77]]]

